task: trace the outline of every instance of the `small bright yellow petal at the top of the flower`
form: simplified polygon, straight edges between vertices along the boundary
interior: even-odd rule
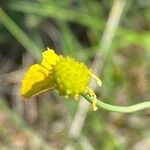
[[[49,71],[52,70],[53,65],[59,61],[59,56],[54,52],[54,50],[47,48],[46,51],[43,52],[43,60],[42,65],[45,66]]]

